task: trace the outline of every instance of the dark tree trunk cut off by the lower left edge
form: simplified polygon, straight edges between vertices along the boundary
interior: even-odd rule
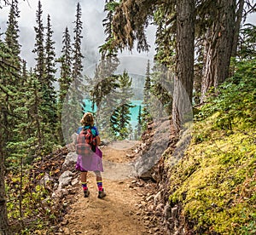
[[[9,235],[11,234],[11,232],[8,224],[7,209],[6,209],[6,195],[5,195],[5,185],[4,185],[3,135],[1,133],[0,133],[0,234]]]

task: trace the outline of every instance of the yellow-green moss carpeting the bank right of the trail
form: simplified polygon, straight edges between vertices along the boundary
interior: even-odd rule
[[[253,234],[255,129],[228,133],[212,126],[216,117],[195,124],[185,157],[170,169],[170,202],[182,204],[195,233]]]

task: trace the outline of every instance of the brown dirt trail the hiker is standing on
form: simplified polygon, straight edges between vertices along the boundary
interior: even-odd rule
[[[148,234],[143,221],[137,213],[137,205],[141,202],[142,187],[134,185],[134,179],[119,177],[114,169],[126,166],[129,161],[126,153],[131,152],[134,142],[125,141],[120,145],[105,146],[102,148],[104,173],[103,187],[107,197],[97,198],[96,179],[93,172],[88,174],[88,186],[90,197],[84,198],[80,185],[77,185],[77,193],[74,202],[65,216],[62,230],[64,234]],[[113,148],[117,147],[117,148]],[[115,167],[108,166],[109,162],[117,163]],[[121,169],[122,171],[122,169]],[[125,171],[125,169],[124,169]],[[115,177],[109,177],[110,175]],[[65,224],[66,223],[66,224]]]

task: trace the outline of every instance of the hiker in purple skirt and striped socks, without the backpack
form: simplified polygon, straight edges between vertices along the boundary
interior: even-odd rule
[[[82,124],[79,127],[77,133],[80,134],[82,131],[90,130],[90,134],[92,134],[94,140],[96,140],[95,146],[96,148],[90,151],[89,154],[84,154],[78,156],[78,161],[76,163],[76,169],[78,169],[81,174],[81,183],[84,191],[84,198],[88,198],[90,195],[90,191],[87,186],[87,173],[88,171],[94,171],[96,175],[96,184],[98,187],[98,198],[104,198],[106,196],[106,192],[102,188],[102,174],[103,166],[102,166],[102,151],[98,148],[101,143],[101,139],[99,136],[98,129],[94,125],[94,118],[90,112],[84,113],[84,117],[82,117],[80,123]],[[78,140],[78,139],[77,139]]]

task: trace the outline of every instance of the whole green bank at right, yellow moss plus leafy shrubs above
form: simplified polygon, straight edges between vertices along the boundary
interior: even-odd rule
[[[189,149],[170,169],[170,202],[195,234],[255,233],[254,68],[255,60],[238,63],[201,106]]]

